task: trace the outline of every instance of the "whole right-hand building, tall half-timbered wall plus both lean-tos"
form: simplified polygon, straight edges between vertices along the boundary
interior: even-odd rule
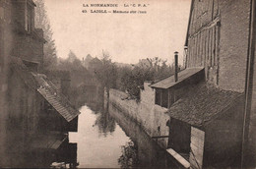
[[[149,85],[168,108],[167,151],[184,167],[241,164],[251,2],[192,0],[186,69]]]

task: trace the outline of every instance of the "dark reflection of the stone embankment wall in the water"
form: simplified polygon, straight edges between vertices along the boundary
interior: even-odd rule
[[[132,159],[133,167],[147,167],[147,168],[177,168],[173,163],[173,159],[166,153],[165,150],[160,148],[156,141],[152,139],[141,129],[137,123],[125,116],[120,110],[109,104],[109,113],[118,125],[123,129],[125,134],[129,136],[133,144],[126,145],[126,149],[136,151],[136,159]],[[125,152],[126,153],[126,152]],[[124,156],[126,154],[123,154]],[[131,159],[125,158],[124,164],[131,164]],[[126,165],[122,166],[126,168]]]

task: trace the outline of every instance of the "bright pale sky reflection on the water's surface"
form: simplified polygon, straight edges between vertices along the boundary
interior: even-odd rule
[[[95,125],[100,115],[88,106],[83,106],[80,111],[78,133],[70,133],[70,142],[78,143],[78,167],[119,168],[117,159],[121,155],[121,145],[129,138],[118,125],[113,132],[102,133]]]

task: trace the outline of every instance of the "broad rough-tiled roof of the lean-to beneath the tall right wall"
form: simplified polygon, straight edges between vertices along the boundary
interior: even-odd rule
[[[242,95],[201,83],[191,86],[189,92],[176,101],[167,112],[174,119],[202,127],[223,115]]]

